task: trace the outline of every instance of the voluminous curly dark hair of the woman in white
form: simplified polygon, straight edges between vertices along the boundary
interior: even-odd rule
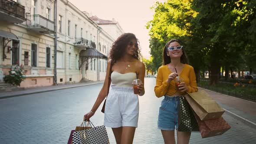
[[[116,41],[112,44],[109,53],[110,59],[112,62],[115,63],[117,60],[121,59],[122,56],[125,54],[125,48],[128,46],[128,43],[131,39],[136,39],[138,43],[138,49],[134,52],[133,56],[135,59],[141,59],[141,47],[140,42],[136,38],[135,34],[133,33],[124,33],[116,39]]]

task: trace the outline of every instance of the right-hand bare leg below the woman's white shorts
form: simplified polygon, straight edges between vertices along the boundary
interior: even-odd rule
[[[132,144],[135,129],[135,127],[123,127],[121,144]]]

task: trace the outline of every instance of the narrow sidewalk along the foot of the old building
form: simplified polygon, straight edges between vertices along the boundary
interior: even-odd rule
[[[11,97],[16,97],[16,96],[21,96],[21,95],[35,94],[35,93],[40,93],[40,92],[56,91],[56,90],[66,89],[66,88],[75,88],[75,87],[81,87],[81,86],[86,86],[86,85],[95,85],[95,84],[99,84],[99,83],[104,83],[104,81],[51,85],[51,86],[42,86],[42,87],[36,87],[36,88],[26,88],[25,90],[21,90],[21,91],[0,92],[0,99],[11,98]]]

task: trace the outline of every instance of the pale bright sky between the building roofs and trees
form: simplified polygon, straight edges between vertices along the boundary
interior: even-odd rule
[[[154,11],[150,9],[156,1],[164,0],[69,0],[79,10],[92,13],[103,20],[116,21],[125,33],[134,33],[140,41],[144,58],[149,59],[148,29],[145,25],[153,19]]]

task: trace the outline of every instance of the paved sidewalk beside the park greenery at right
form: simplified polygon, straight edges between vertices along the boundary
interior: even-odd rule
[[[213,92],[204,88],[212,98],[233,118],[242,121],[250,127],[256,128],[256,102],[247,101],[241,98],[236,98],[230,95],[224,95],[218,92]]]

